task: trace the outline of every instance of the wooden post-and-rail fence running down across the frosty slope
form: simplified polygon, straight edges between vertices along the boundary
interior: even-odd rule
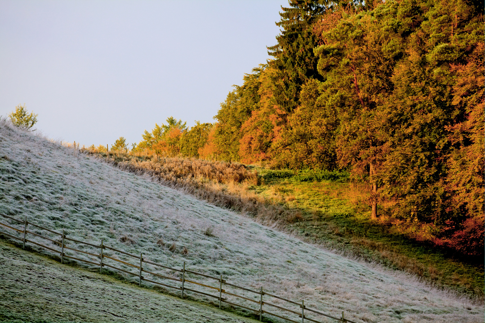
[[[109,267],[109,268],[112,268],[114,270],[117,270],[117,271],[126,273],[128,275],[137,276],[138,277],[138,280],[139,280],[139,285],[140,286],[142,285],[142,281],[146,281],[146,282],[149,282],[149,283],[152,283],[152,284],[157,284],[157,285],[161,285],[161,286],[168,287],[168,288],[171,288],[171,289],[179,290],[179,291],[181,291],[181,298],[182,299],[184,297],[184,291],[191,291],[193,293],[202,294],[202,295],[205,295],[205,296],[208,296],[208,297],[212,297],[212,298],[217,299],[219,301],[219,308],[221,307],[221,304],[222,303],[226,303],[226,304],[229,304],[229,305],[232,305],[232,306],[235,306],[235,307],[241,307],[241,308],[244,308],[244,309],[253,311],[253,312],[259,314],[259,321],[262,320],[262,315],[263,314],[268,314],[268,315],[272,315],[274,317],[277,317],[277,318],[286,320],[288,322],[293,322],[293,323],[300,323],[300,322],[301,323],[305,323],[305,320],[307,320],[309,322],[314,322],[314,323],[322,323],[320,321],[316,321],[316,320],[308,317],[305,314],[305,310],[306,310],[306,311],[309,311],[309,312],[312,312],[312,313],[316,313],[316,314],[322,315],[322,316],[327,317],[327,318],[330,318],[330,319],[337,320],[337,321],[339,321],[341,323],[344,323],[344,322],[357,323],[355,321],[351,321],[349,319],[344,318],[343,311],[341,313],[341,317],[335,317],[335,316],[328,315],[328,314],[322,313],[320,311],[314,310],[312,308],[306,307],[303,300],[302,300],[301,303],[294,302],[294,301],[291,301],[289,299],[286,299],[286,298],[283,298],[283,297],[280,297],[280,296],[277,296],[277,295],[274,295],[274,294],[265,292],[265,291],[263,291],[263,288],[262,287],[260,288],[259,291],[254,291],[254,290],[249,289],[249,288],[246,288],[246,287],[242,287],[242,286],[239,286],[239,285],[235,285],[235,284],[228,283],[228,282],[226,282],[226,280],[222,279],[222,275],[220,275],[220,277],[215,277],[215,276],[206,275],[206,274],[197,273],[197,272],[194,272],[194,271],[191,271],[191,270],[187,270],[187,269],[185,269],[185,261],[184,261],[184,265],[183,265],[183,268],[182,269],[176,269],[176,268],[172,268],[170,266],[165,266],[165,265],[162,265],[162,264],[153,262],[153,261],[146,260],[146,259],[143,258],[143,254],[140,254],[140,256],[137,256],[137,255],[130,254],[130,253],[126,252],[126,251],[119,250],[119,249],[115,249],[113,247],[107,246],[107,245],[103,244],[103,241],[102,240],[101,240],[101,243],[100,244],[83,242],[83,241],[80,241],[80,240],[76,240],[76,239],[72,239],[72,238],[67,237],[65,235],[65,233],[64,233],[64,230],[63,230],[63,232],[57,232],[57,231],[51,230],[51,229],[49,229],[47,227],[39,226],[37,224],[34,224],[32,222],[29,222],[29,221],[27,221],[27,217],[25,217],[24,221],[22,221],[22,220],[18,220],[16,218],[14,218],[14,217],[8,216],[6,214],[0,213],[0,215],[3,216],[3,217],[5,217],[5,218],[8,218],[8,219],[10,219],[12,221],[17,222],[18,224],[22,224],[23,225],[23,228],[22,229],[19,229],[19,228],[13,227],[12,225],[7,225],[5,223],[1,223],[0,222],[0,225],[1,226],[6,227],[8,229],[11,229],[11,230],[13,230],[15,232],[19,232],[19,233],[23,234],[23,237],[22,238],[19,238],[19,237],[16,237],[14,234],[7,233],[7,232],[4,232],[4,231],[1,231],[0,230],[0,235],[7,236],[9,238],[12,238],[12,239],[16,239],[16,240],[21,241],[23,243],[23,248],[25,248],[25,243],[26,242],[29,242],[29,243],[33,243],[35,245],[38,245],[40,247],[43,247],[45,249],[48,249],[48,250],[50,250],[50,251],[52,251],[52,252],[54,252],[56,254],[59,254],[60,255],[60,258],[61,258],[61,262],[64,262],[64,258],[70,258],[70,259],[74,259],[74,260],[77,260],[77,261],[82,261],[82,262],[86,262],[86,263],[89,263],[89,264],[93,264],[93,265],[99,266],[99,270],[100,271],[102,271],[102,268],[103,267]],[[48,232],[50,232],[52,234],[58,235],[58,236],[61,237],[61,239],[59,239],[60,241],[59,240],[55,240],[55,239],[51,239],[49,237],[43,236],[42,234],[39,234],[39,233],[36,233],[36,232],[32,232],[30,230],[27,230],[27,226],[29,226],[29,225],[38,227],[38,228],[40,228],[42,230],[46,230],[46,231],[48,231]],[[56,250],[56,249],[53,249],[53,248],[48,247],[46,245],[43,245],[41,243],[34,242],[32,240],[28,240],[27,237],[26,237],[27,234],[31,234],[31,235],[33,235],[35,237],[39,237],[39,238],[42,238],[42,239],[46,239],[46,240],[52,242],[54,245],[60,246],[61,247],[61,250]],[[77,242],[77,243],[81,243],[81,244],[84,244],[84,245],[87,245],[87,246],[90,246],[90,247],[94,247],[94,248],[99,248],[100,252],[99,252],[99,254],[96,254],[96,253],[87,252],[87,251],[84,251],[84,250],[79,250],[79,249],[76,249],[76,248],[73,248],[73,247],[69,247],[69,246],[65,245],[65,240],[72,241],[72,242]],[[95,262],[95,261],[90,261],[90,260],[82,259],[82,258],[77,258],[77,257],[74,257],[72,255],[66,255],[65,252],[64,252],[64,249],[68,249],[68,250],[71,250],[71,251],[79,252],[81,254],[85,254],[85,255],[88,255],[88,256],[92,256],[94,258],[99,258],[99,263],[98,262]],[[119,253],[121,255],[125,255],[125,256],[131,257],[131,258],[134,258],[134,259],[137,259],[138,264],[129,263],[128,260],[125,261],[125,260],[118,259],[114,255],[113,256],[105,255],[103,253],[104,249],[111,250],[111,251],[114,251],[114,252]],[[103,261],[104,258],[111,259],[111,260],[113,260],[113,261],[115,261],[117,263],[124,264],[124,265],[129,266],[130,268],[133,268],[133,269],[138,269],[138,273],[133,273],[133,272],[130,272],[129,270],[126,270],[126,269],[123,269],[123,268],[119,268],[119,267],[113,266],[113,264],[107,264],[105,261]],[[93,260],[93,259],[91,259],[91,260]],[[170,271],[174,271],[174,272],[181,273],[182,274],[182,277],[181,278],[180,277],[171,277],[171,276],[167,276],[167,275],[161,275],[161,274],[154,273],[152,271],[147,270],[147,268],[144,268],[143,263],[150,264],[150,265],[156,266],[156,267],[161,267],[161,268],[164,268],[164,269],[168,269]],[[172,285],[169,285],[169,284],[165,284],[165,283],[160,282],[160,281],[153,280],[153,278],[152,279],[148,279],[148,278],[145,278],[142,275],[142,273],[149,274],[149,275],[153,276],[154,278],[156,277],[156,278],[161,278],[161,279],[167,279],[167,280],[181,282],[182,285],[179,286],[179,287],[177,287],[177,286],[172,286]],[[211,286],[211,285],[208,285],[208,284],[204,284],[202,282],[195,281],[193,278],[187,279],[187,278],[185,278],[186,273],[187,274],[192,274],[192,275],[195,275],[195,276],[201,276],[201,277],[213,279],[213,280],[217,281],[218,286]],[[202,286],[204,288],[209,288],[211,290],[215,290],[215,291],[218,292],[218,295],[213,295],[213,294],[210,294],[208,292],[204,292],[204,291],[200,291],[200,290],[195,290],[195,289],[192,289],[192,288],[187,288],[185,286],[186,283],[194,284],[196,286]],[[240,295],[240,293],[226,291],[225,289],[223,289],[223,286],[222,286],[223,284],[226,285],[226,286],[235,288],[235,289],[239,289],[239,290],[242,290],[242,291],[248,291],[250,293],[254,293],[254,294],[256,294],[256,295],[259,296],[259,300],[255,300],[255,299],[249,298],[247,296],[242,296],[242,295]],[[255,305],[259,305],[258,306],[259,308],[251,308],[251,307],[247,307],[247,306],[242,305],[242,304],[237,304],[237,303],[231,302],[231,301],[227,300],[227,297],[223,297],[222,294],[229,295],[229,296],[233,296],[233,297],[236,297],[237,299],[241,299],[243,301],[248,301],[248,302],[255,303]],[[282,301],[287,302],[287,303],[292,304],[292,305],[296,305],[299,308],[301,308],[301,312],[297,312],[297,311],[291,310],[291,309],[286,308],[286,307],[278,306],[278,305],[269,303],[267,301],[263,301],[263,296],[264,295],[267,295],[269,297],[273,297],[275,299],[282,300]],[[289,317],[283,316],[283,314],[279,315],[279,314],[272,313],[272,312],[269,312],[267,310],[264,310],[263,309],[263,305],[266,306],[266,307],[278,308],[278,309],[280,309],[282,311],[285,311],[285,312],[294,314],[297,317],[301,318],[301,321],[300,322],[299,321],[295,321],[295,320],[290,319]]]

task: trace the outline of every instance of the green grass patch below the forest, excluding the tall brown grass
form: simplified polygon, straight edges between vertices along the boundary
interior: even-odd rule
[[[290,208],[301,209],[304,220],[287,229],[307,236],[308,241],[405,269],[438,286],[483,298],[483,264],[461,261],[443,250],[409,239],[390,226],[371,221],[369,207],[355,203],[357,196],[360,200],[366,196],[350,186],[272,178],[266,185],[251,189],[267,198],[286,201]]]

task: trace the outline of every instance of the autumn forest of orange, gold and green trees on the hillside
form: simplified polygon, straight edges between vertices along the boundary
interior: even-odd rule
[[[371,218],[483,258],[483,2],[291,0],[280,16],[272,59],[214,123],[169,117],[133,151],[346,171]]]

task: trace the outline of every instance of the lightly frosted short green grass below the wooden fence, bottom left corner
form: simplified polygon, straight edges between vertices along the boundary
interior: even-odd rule
[[[0,240],[0,322],[259,322]]]

